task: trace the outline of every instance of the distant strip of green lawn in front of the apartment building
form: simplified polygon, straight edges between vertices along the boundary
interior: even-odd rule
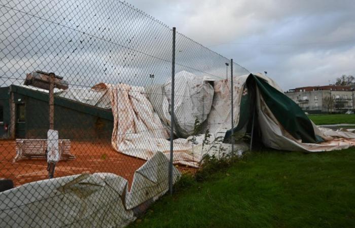
[[[308,115],[316,125],[325,124],[355,124],[355,115],[334,114],[334,115]]]

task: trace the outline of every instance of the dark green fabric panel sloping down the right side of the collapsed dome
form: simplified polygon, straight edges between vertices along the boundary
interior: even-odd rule
[[[265,103],[283,128],[296,139],[301,139],[302,142],[316,143],[318,140],[314,134],[312,123],[302,109],[266,81],[253,74],[251,76],[254,78]]]

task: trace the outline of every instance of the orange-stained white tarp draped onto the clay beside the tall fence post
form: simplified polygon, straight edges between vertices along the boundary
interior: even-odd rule
[[[154,111],[145,88],[125,84],[95,87],[106,89],[110,94],[114,116],[112,145],[117,151],[145,160],[158,151],[169,157],[169,132]],[[211,135],[208,140],[213,142],[215,138]],[[175,139],[173,163],[198,167],[204,154],[216,150],[203,141],[204,135]]]

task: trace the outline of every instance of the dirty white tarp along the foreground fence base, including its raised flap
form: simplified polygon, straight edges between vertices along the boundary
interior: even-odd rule
[[[128,181],[113,173],[35,181],[0,193],[0,227],[124,227],[133,208],[168,191],[169,161],[156,153]],[[181,174],[173,167],[173,183]]]

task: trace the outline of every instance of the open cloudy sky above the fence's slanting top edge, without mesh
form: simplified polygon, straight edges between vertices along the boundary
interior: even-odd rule
[[[355,2],[131,0],[191,39],[282,89],[326,85],[355,74]]]

